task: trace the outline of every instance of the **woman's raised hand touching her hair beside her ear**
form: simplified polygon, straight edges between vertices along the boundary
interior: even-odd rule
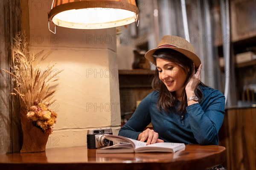
[[[195,73],[195,69],[194,69],[193,76],[191,77],[191,79],[189,79],[189,82],[185,87],[185,90],[186,90],[187,94],[190,91],[194,92],[195,88],[198,86],[198,84],[200,82],[201,69],[202,69],[202,64],[199,65],[198,70],[196,71],[196,73]]]

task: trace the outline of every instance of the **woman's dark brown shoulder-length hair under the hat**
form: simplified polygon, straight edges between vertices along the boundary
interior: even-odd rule
[[[194,65],[193,61],[186,57],[185,55],[181,54],[178,51],[169,49],[169,48],[163,48],[159,49],[154,52],[153,54],[154,58],[154,64],[156,65],[156,59],[166,59],[168,61],[171,61],[177,65],[179,65],[186,74],[186,80],[184,86],[189,82],[189,79],[193,76],[192,73],[194,73]],[[189,68],[189,71],[187,71]],[[204,85],[202,82],[199,83],[200,85]],[[182,99],[180,102],[180,106],[178,108],[175,108],[175,105],[179,102],[179,100],[176,98],[174,92],[168,91],[166,85],[160,80],[158,70],[156,69],[154,78],[152,80],[152,88],[155,91],[159,92],[159,97],[157,100],[157,109],[160,111],[160,108],[163,108],[164,111],[167,113],[169,112],[169,109],[172,109],[173,111],[183,114],[186,112],[187,107],[187,97],[186,97],[186,91],[185,88],[182,92]],[[201,89],[197,86],[195,89],[195,95],[198,96],[199,100],[198,102],[201,102],[203,98],[203,93]]]

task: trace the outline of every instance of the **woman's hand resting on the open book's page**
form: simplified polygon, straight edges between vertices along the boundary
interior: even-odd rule
[[[156,133],[152,129],[144,130],[142,133],[139,134],[137,140],[141,142],[147,141],[147,145],[158,143],[158,142],[164,142],[162,139],[158,139],[158,133]]]

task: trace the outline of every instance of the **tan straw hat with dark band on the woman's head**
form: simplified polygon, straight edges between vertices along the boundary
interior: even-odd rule
[[[162,40],[157,45],[157,48],[149,50],[145,54],[145,58],[148,59],[150,62],[154,63],[154,59],[152,55],[154,54],[155,51],[161,48],[173,49],[175,51],[179,51],[180,53],[184,54],[186,57],[192,59],[192,61],[195,63],[195,69],[197,69],[201,64],[201,60],[194,53],[194,48],[192,47],[191,43],[184,38],[173,36],[173,35],[163,36]]]

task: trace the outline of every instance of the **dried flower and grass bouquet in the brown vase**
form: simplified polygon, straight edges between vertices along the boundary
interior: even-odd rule
[[[52,98],[56,91],[50,87],[50,82],[58,80],[55,77],[63,70],[52,74],[55,63],[42,71],[39,64],[49,53],[42,55],[44,51],[40,51],[34,55],[30,53],[28,45],[25,34],[17,34],[12,47],[12,71],[2,70],[12,76],[15,88],[11,94],[19,97],[21,107],[27,111],[26,116],[44,133],[51,134],[57,114],[49,107],[55,102]],[[41,61],[35,64],[40,56]]]

